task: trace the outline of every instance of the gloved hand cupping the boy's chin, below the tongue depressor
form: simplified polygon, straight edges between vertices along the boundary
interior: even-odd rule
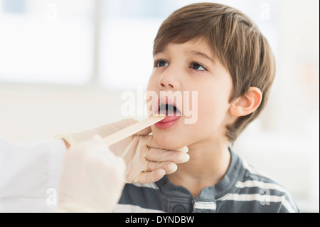
[[[124,123],[127,123],[124,121]],[[177,163],[189,159],[186,149],[161,149],[149,135],[151,128],[138,132],[116,144],[110,149],[117,156],[123,157],[127,164],[127,183],[151,183],[158,181],[165,174],[176,171]]]

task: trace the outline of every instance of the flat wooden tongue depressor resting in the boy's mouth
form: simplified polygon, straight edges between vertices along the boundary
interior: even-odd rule
[[[115,132],[114,134],[110,134],[110,136],[105,137],[104,139],[102,139],[102,141],[105,144],[107,144],[107,146],[110,146],[112,144],[115,144],[116,142],[119,142],[122,139],[131,136],[134,133],[137,133],[145,129],[146,127],[156,124],[156,122],[164,120],[164,118],[166,118],[166,115],[159,114],[150,116],[140,122],[137,122],[134,125],[130,125],[129,127],[125,127],[124,129]]]

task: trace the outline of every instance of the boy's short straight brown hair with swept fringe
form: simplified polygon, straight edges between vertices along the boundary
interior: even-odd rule
[[[213,3],[191,4],[178,9],[162,23],[154,40],[154,54],[168,43],[186,43],[203,38],[228,69],[233,80],[229,102],[245,95],[250,87],[262,92],[260,107],[228,125],[226,136],[234,142],[255,120],[267,102],[274,80],[275,63],[266,38],[245,14],[230,6]]]

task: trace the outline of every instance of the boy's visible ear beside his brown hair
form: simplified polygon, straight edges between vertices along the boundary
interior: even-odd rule
[[[233,100],[230,105],[230,114],[235,117],[250,115],[257,110],[262,100],[262,93],[259,88],[250,87],[242,97]]]

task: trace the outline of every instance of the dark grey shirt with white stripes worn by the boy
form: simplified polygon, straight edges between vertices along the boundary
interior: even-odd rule
[[[198,196],[164,176],[152,184],[126,184],[114,212],[299,212],[289,193],[230,149],[223,179]]]

